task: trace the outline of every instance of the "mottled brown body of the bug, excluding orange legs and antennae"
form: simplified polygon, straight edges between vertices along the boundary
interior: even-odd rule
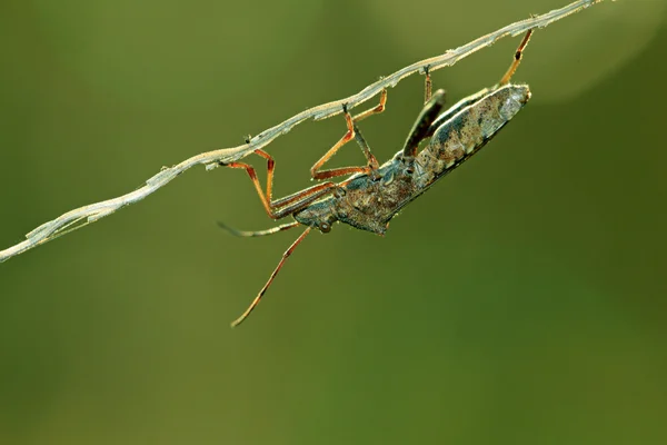
[[[437,91],[425,111],[441,107]],[[301,225],[329,231],[335,221],[384,235],[389,220],[439,178],[454,170],[487,144],[530,98],[527,86],[507,85],[471,105],[444,115],[427,130],[429,145],[415,156],[407,146],[374,174],[358,174],[336,192],[293,214]]]

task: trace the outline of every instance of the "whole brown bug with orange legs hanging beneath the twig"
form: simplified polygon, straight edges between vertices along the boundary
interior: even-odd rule
[[[313,179],[352,175],[342,182],[320,182],[273,200],[271,189],[275,162],[269,154],[260,149],[255,151],[267,160],[266,191],[262,190],[252,166],[243,162],[220,164],[246,169],[269,217],[281,219],[291,215],[295,219],[290,224],[259,231],[236,230],[222,222],[219,222],[220,227],[236,236],[257,237],[306,226],[306,230],[285,251],[255,300],[239,318],[232,322],[231,326],[241,324],[257,307],[287,258],[312,229],[326,234],[331,230],[334,222],[340,221],[358,229],[384,235],[389,220],[401,208],[424,194],[442,176],[468,160],[509,122],[530,99],[527,85],[510,83],[530,34],[529,30],[519,43],[509,69],[497,85],[461,99],[442,113],[440,111],[445,105],[445,91],[437,90],[431,93],[430,75],[428,68],[425,69],[425,107],[417,117],[404,148],[381,166],[370,152],[368,144],[357,128],[357,122],[385,110],[387,90],[382,90],[377,107],[355,117],[344,106],[346,135],[310,169]],[[368,164],[365,167],[322,170],[321,167],[352,138],[361,147]],[[428,138],[430,138],[428,145],[417,152],[419,144]]]

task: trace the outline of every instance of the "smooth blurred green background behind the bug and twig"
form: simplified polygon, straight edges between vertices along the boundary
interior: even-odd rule
[[[0,248],[566,1],[6,0]],[[666,7],[604,2],[537,32],[515,77],[532,100],[491,145],[385,238],[311,235],[239,329],[298,235],[216,226],[272,225],[243,171],[196,168],[0,265],[0,443],[666,443]],[[492,85],[517,43],[436,87]],[[379,159],[421,100],[414,76],[362,123]],[[276,196],[344,131],[269,146]]]

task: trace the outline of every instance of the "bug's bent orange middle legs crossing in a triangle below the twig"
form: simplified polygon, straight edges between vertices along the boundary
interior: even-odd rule
[[[337,176],[351,175],[351,174],[358,174],[358,172],[368,174],[368,172],[377,169],[379,166],[378,160],[370,152],[370,148],[368,147],[368,144],[366,144],[366,140],[364,140],[364,137],[361,137],[361,134],[355,123],[368,118],[369,116],[377,115],[377,113],[385,111],[386,103],[387,103],[387,90],[382,90],[382,92],[380,95],[380,103],[378,103],[377,107],[368,109],[364,112],[360,112],[359,115],[357,115],[355,117],[351,117],[350,113],[347,111],[347,109],[344,107],[345,121],[347,123],[348,130],[345,134],[345,136],[342,138],[340,138],[340,140],[338,142],[336,142],[336,145],[334,145],[334,147],[331,147],[329,149],[329,151],[327,151],[325,154],[325,156],[322,156],[317,162],[315,162],[312,168],[310,168],[310,176],[313,179],[328,179],[328,178],[334,178]],[[359,144],[359,146],[361,147],[361,150],[364,151],[364,155],[366,156],[366,159],[368,160],[368,166],[366,166],[366,167],[342,167],[342,168],[335,168],[335,169],[330,169],[330,170],[320,170],[320,168],[329,159],[331,159],[334,157],[334,155],[336,155],[336,152],[340,149],[340,147],[345,146],[352,138],[355,138],[357,140],[357,144]]]

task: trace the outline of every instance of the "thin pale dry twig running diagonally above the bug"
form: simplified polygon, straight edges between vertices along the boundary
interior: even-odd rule
[[[506,36],[514,37],[534,28],[544,28],[557,20],[560,20],[567,16],[586,9],[600,1],[603,0],[575,1],[564,8],[547,12],[545,14],[535,16],[529,19],[508,24],[507,27],[501,28],[496,32],[491,32],[489,34],[480,37],[479,39],[464,44],[462,47],[459,47],[454,50],[448,50],[444,55],[432,57],[430,59],[420,60],[416,63],[410,65],[409,67],[402,68],[396,71],[395,73],[387,76],[375,83],[369,85],[368,87],[366,87],[365,89],[362,89],[354,96],[302,111],[287,119],[286,121],[277,125],[276,127],[271,127],[268,130],[257,135],[249,141],[249,144],[233,148],[223,148],[219,150],[207,151],[193,156],[189,159],[186,159],[185,161],[173,167],[162,168],[162,170],[159,174],[148,179],[145,186],[130,194],[106,201],[91,204],[89,206],[79,207],[74,210],[68,211],[64,215],[61,215],[60,217],[51,221],[42,224],[31,233],[26,235],[27,239],[24,241],[19,243],[16,246],[12,246],[6,250],[0,250],[0,263],[12,258],[19,254],[22,254],[23,251],[29,250],[33,247],[56,239],[59,236],[83,227],[90,222],[94,222],[98,219],[111,215],[112,212],[125,206],[128,206],[130,204],[137,202],[146,198],[159,188],[165,187],[173,178],[188,170],[190,167],[202,164],[206,165],[207,170],[210,170],[217,167],[218,162],[220,161],[229,162],[238,160],[245,156],[250,155],[256,149],[269,145],[273,139],[287,134],[293,127],[303,122],[305,120],[311,118],[315,120],[321,120],[338,115],[342,112],[344,103],[347,103],[348,109],[352,109],[358,105],[369,100],[382,89],[396,87],[398,82],[404,78],[411,76],[416,72],[424,72],[426,68],[428,68],[430,71],[435,71],[444,67],[450,67],[459,60],[470,56],[471,53],[495,43],[498,39],[501,39]]]

